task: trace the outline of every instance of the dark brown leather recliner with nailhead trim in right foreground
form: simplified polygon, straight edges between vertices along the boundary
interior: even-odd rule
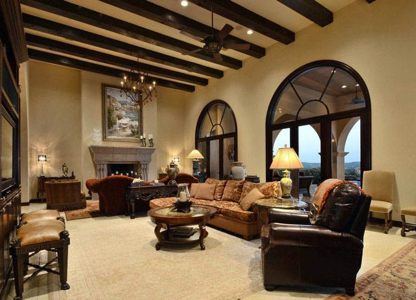
[[[260,236],[265,289],[341,287],[354,295],[370,201],[358,187],[343,183],[328,194],[320,226],[311,225],[308,212],[270,210]]]

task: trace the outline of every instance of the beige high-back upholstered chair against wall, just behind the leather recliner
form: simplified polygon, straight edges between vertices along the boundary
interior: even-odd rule
[[[371,170],[364,171],[363,173],[363,190],[372,198],[370,216],[371,212],[382,213],[385,215],[385,234],[387,234],[389,229],[393,226],[393,186],[393,171]]]

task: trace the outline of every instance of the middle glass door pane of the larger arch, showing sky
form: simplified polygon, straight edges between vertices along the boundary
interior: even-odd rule
[[[299,170],[300,177],[312,177],[312,185],[321,184],[321,124],[310,124],[299,127],[299,158],[304,167]],[[306,178],[305,178],[306,179]],[[308,180],[300,182],[308,183]],[[304,189],[310,187],[299,186],[300,193],[304,193]]]

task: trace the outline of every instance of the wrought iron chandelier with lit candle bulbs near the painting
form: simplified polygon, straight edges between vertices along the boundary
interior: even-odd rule
[[[149,83],[149,74],[139,71],[139,58],[137,59],[138,69],[131,69],[128,75],[121,80],[121,92],[126,94],[126,99],[130,99],[138,106],[152,101],[152,96],[157,96],[156,81]]]

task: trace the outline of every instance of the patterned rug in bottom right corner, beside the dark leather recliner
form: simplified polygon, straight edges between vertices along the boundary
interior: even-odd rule
[[[336,294],[326,298],[345,299],[416,299],[416,240],[360,276],[355,284],[355,297]]]

